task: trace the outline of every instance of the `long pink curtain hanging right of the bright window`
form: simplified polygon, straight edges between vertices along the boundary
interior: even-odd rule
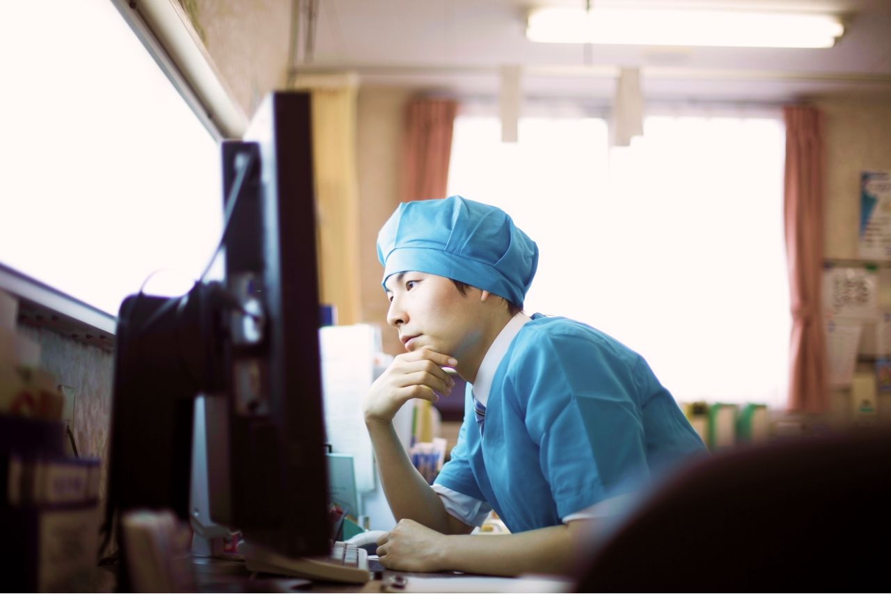
[[[823,148],[819,110],[786,107],[785,224],[791,290],[790,411],[829,408],[823,332]]]

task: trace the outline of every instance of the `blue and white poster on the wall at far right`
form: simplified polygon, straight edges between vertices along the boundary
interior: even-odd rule
[[[891,260],[891,171],[860,174],[860,257]]]

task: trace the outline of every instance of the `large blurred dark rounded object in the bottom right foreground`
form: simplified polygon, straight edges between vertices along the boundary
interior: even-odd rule
[[[889,535],[888,427],[740,448],[643,500],[576,591],[887,591]]]

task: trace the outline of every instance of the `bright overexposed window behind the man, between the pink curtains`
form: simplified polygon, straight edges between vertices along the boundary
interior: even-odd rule
[[[650,117],[608,148],[601,118],[455,121],[449,193],[503,207],[541,250],[527,312],[642,354],[679,401],[782,406],[789,286],[779,116]]]

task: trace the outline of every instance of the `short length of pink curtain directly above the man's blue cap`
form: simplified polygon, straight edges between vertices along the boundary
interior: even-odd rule
[[[406,106],[403,202],[446,197],[457,110],[457,102],[443,99],[416,99]]]

